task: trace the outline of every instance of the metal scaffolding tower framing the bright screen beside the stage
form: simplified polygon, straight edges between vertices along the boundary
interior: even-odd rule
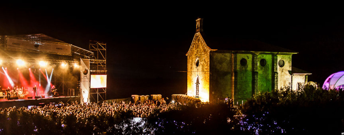
[[[93,52],[93,59],[90,59],[91,75],[106,75],[106,43],[98,41],[89,41],[89,51]],[[106,100],[106,88],[90,89],[92,101]]]

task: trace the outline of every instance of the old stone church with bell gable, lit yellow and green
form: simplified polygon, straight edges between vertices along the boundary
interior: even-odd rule
[[[235,102],[257,92],[291,85],[298,89],[311,73],[291,66],[292,50],[256,40],[206,37],[203,19],[187,52],[187,95],[202,102],[229,97]]]

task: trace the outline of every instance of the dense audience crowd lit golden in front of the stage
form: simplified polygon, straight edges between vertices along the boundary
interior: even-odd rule
[[[108,115],[108,116],[114,116],[115,112],[118,111],[124,111],[128,112],[131,111],[132,114],[135,117],[148,117],[150,114],[152,114],[155,111],[164,112],[168,111],[170,109],[175,108],[176,104],[166,104],[164,99],[158,101],[152,101],[152,100],[146,100],[143,103],[137,102],[137,103],[77,103],[72,102],[71,104],[63,104],[62,102],[60,104],[49,104],[45,106],[34,106],[30,109],[26,107],[22,107],[19,109],[16,109],[15,106],[13,108],[0,108],[1,114],[4,113],[10,113],[11,111],[18,111],[19,113],[24,112],[30,112],[33,114],[40,114],[46,117],[50,117],[53,113],[57,114],[57,116],[67,116],[70,114],[75,115],[78,119],[79,118],[87,118],[92,115]]]

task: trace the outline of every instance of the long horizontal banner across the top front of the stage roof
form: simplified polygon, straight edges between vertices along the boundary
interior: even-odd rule
[[[41,52],[60,55],[72,55],[72,44],[31,41],[19,37],[6,37],[6,50]]]

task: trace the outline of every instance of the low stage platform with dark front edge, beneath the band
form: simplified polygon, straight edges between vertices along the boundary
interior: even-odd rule
[[[80,102],[80,96],[70,96],[70,97],[44,97],[38,99],[28,99],[28,97],[23,97],[16,100],[7,100],[6,97],[0,97],[0,108],[9,108],[15,106],[16,108],[28,107],[32,105],[44,106],[46,104],[55,104],[55,103],[71,103],[71,102]]]

